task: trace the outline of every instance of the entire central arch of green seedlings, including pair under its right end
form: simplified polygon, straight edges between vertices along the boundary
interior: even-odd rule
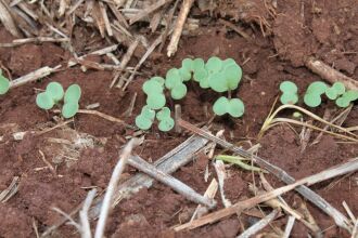
[[[141,130],[152,127],[155,114],[161,131],[169,131],[175,121],[170,117],[170,109],[165,107],[167,90],[172,100],[182,100],[188,92],[186,82],[193,79],[202,89],[212,89],[215,92],[228,92],[229,98],[219,97],[213,107],[216,115],[229,114],[232,117],[241,117],[244,114],[244,104],[239,98],[231,98],[231,91],[235,90],[242,78],[242,69],[234,60],[220,60],[210,57],[206,63],[202,58],[184,58],[180,68],[171,68],[165,79],[153,77],[143,84],[146,94],[146,105],[136,118],[136,124]],[[155,110],[158,110],[157,113]]]

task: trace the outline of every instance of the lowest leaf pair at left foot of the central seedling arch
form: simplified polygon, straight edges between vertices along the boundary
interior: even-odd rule
[[[142,108],[140,115],[136,117],[136,124],[141,130],[149,130],[155,119],[155,110],[148,105]],[[161,131],[167,132],[174,128],[174,119],[170,117],[170,109],[163,107],[157,114],[156,119],[159,121],[158,128]]]

